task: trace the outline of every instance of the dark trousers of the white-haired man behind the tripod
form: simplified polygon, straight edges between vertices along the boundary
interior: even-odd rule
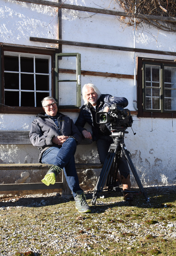
[[[96,141],[97,150],[99,153],[99,160],[101,164],[104,164],[110,144],[113,143],[113,138],[110,136],[99,136],[99,139]],[[128,162],[125,158],[125,156],[121,153],[121,156],[119,158],[119,166],[118,166],[119,172],[121,175],[127,178],[128,174],[130,173]]]

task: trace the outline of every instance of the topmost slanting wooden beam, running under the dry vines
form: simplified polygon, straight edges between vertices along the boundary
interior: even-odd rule
[[[77,11],[88,11],[92,13],[100,13],[100,14],[106,14],[106,15],[114,15],[114,16],[124,16],[124,17],[130,17],[130,18],[137,18],[137,19],[145,19],[145,20],[161,20],[165,22],[176,22],[175,17],[162,17],[162,16],[155,16],[155,15],[143,15],[138,13],[128,13],[124,11],[112,11],[107,9],[99,9],[99,8],[91,8],[86,6],[79,6],[79,5],[73,5],[73,4],[62,4],[62,3],[55,3],[51,1],[44,1],[44,0],[15,0],[15,1],[21,1],[31,4],[41,4],[41,5],[47,5],[52,7],[58,7],[58,8],[64,8],[64,9],[71,9],[71,10],[77,10]]]

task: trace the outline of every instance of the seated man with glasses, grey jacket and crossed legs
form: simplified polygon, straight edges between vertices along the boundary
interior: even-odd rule
[[[76,209],[82,213],[90,212],[84,191],[79,185],[74,160],[81,133],[72,119],[58,112],[54,98],[45,97],[41,103],[45,113],[38,114],[32,122],[29,138],[33,146],[40,149],[39,162],[53,164],[42,182],[47,186],[54,184],[56,176],[63,169]]]

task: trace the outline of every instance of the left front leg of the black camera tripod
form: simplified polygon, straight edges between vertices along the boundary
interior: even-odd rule
[[[96,186],[95,186],[95,189],[94,189],[94,192],[93,192],[92,205],[95,205],[98,194],[103,190],[103,187],[105,185],[105,182],[106,182],[108,173],[110,171],[111,165],[114,161],[115,154],[116,154],[115,152],[114,153],[108,152],[108,154],[107,154],[105,163],[103,164],[103,168],[100,172],[99,179],[96,183]]]

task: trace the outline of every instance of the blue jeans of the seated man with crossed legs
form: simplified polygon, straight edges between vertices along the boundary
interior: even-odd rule
[[[68,186],[70,187],[73,197],[77,191],[82,191],[79,185],[77,170],[75,168],[74,154],[77,149],[75,139],[68,138],[60,148],[50,147],[45,150],[41,162],[43,164],[57,165],[63,169]]]

